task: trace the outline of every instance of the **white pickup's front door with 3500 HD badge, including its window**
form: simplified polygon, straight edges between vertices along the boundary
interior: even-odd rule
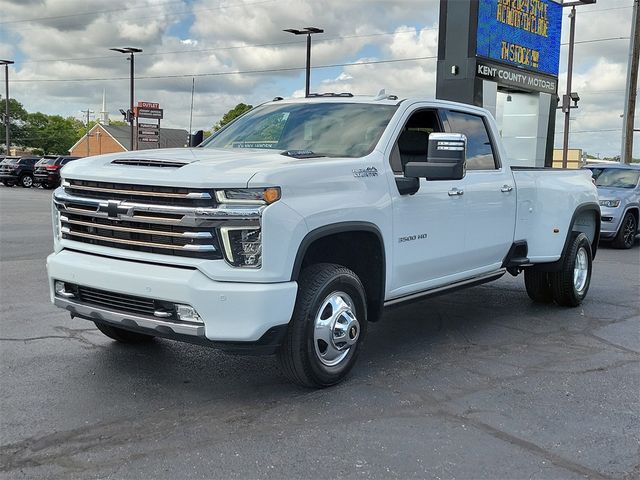
[[[407,162],[426,161],[428,136],[441,132],[438,112],[414,108],[390,147],[395,178]],[[393,178],[393,272],[389,297],[398,298],[455,281],[465,271],[465,180],[419,179],[413,195],[401,195]]]

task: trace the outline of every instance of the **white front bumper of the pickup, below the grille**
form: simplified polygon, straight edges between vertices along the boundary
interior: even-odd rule
[[[194,343],[264,344],[289,323],[296,282],[211,280],[195,268],[132,262],[62,250],[49,255],[51,301],[74,316]],[[202,324],[166,321],[56,295],[56,280],[109,292],[190,305]]]

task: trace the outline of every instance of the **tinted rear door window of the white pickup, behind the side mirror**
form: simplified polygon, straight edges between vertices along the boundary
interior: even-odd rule
[[[467,137],[467,170],[498,168],[482,117],[449,111],[447,120],[452,133],[462,133]]]

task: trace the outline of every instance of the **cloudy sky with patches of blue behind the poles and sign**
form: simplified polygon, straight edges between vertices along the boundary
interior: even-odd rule
[[[455,0],[452,0],[455,1]],[[633,0],[579,7],[571,147],[620,153]],[[435,95],[438,0],[0,0],[0,58],[15,60],[10,93],[29,111],[111,118],[129,99],[129,66],[111,47],[135,46],[136,100],[158,102],[163,126],[209,129],[239,102],[299,96],[304,37],[317,26],[312,91]],[[560,85],[569,29],[562,30]],[[563,89],[563,87],[561,88]],[[556,145],[562,139],[558,116]],[[634,156],[640,156],[636,140]]]

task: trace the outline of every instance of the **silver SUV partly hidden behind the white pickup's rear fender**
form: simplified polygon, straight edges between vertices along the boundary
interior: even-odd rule
[[[640,165],[587,165],[598,187],[601,235],[615,248],[631,248],[640,217]]]

